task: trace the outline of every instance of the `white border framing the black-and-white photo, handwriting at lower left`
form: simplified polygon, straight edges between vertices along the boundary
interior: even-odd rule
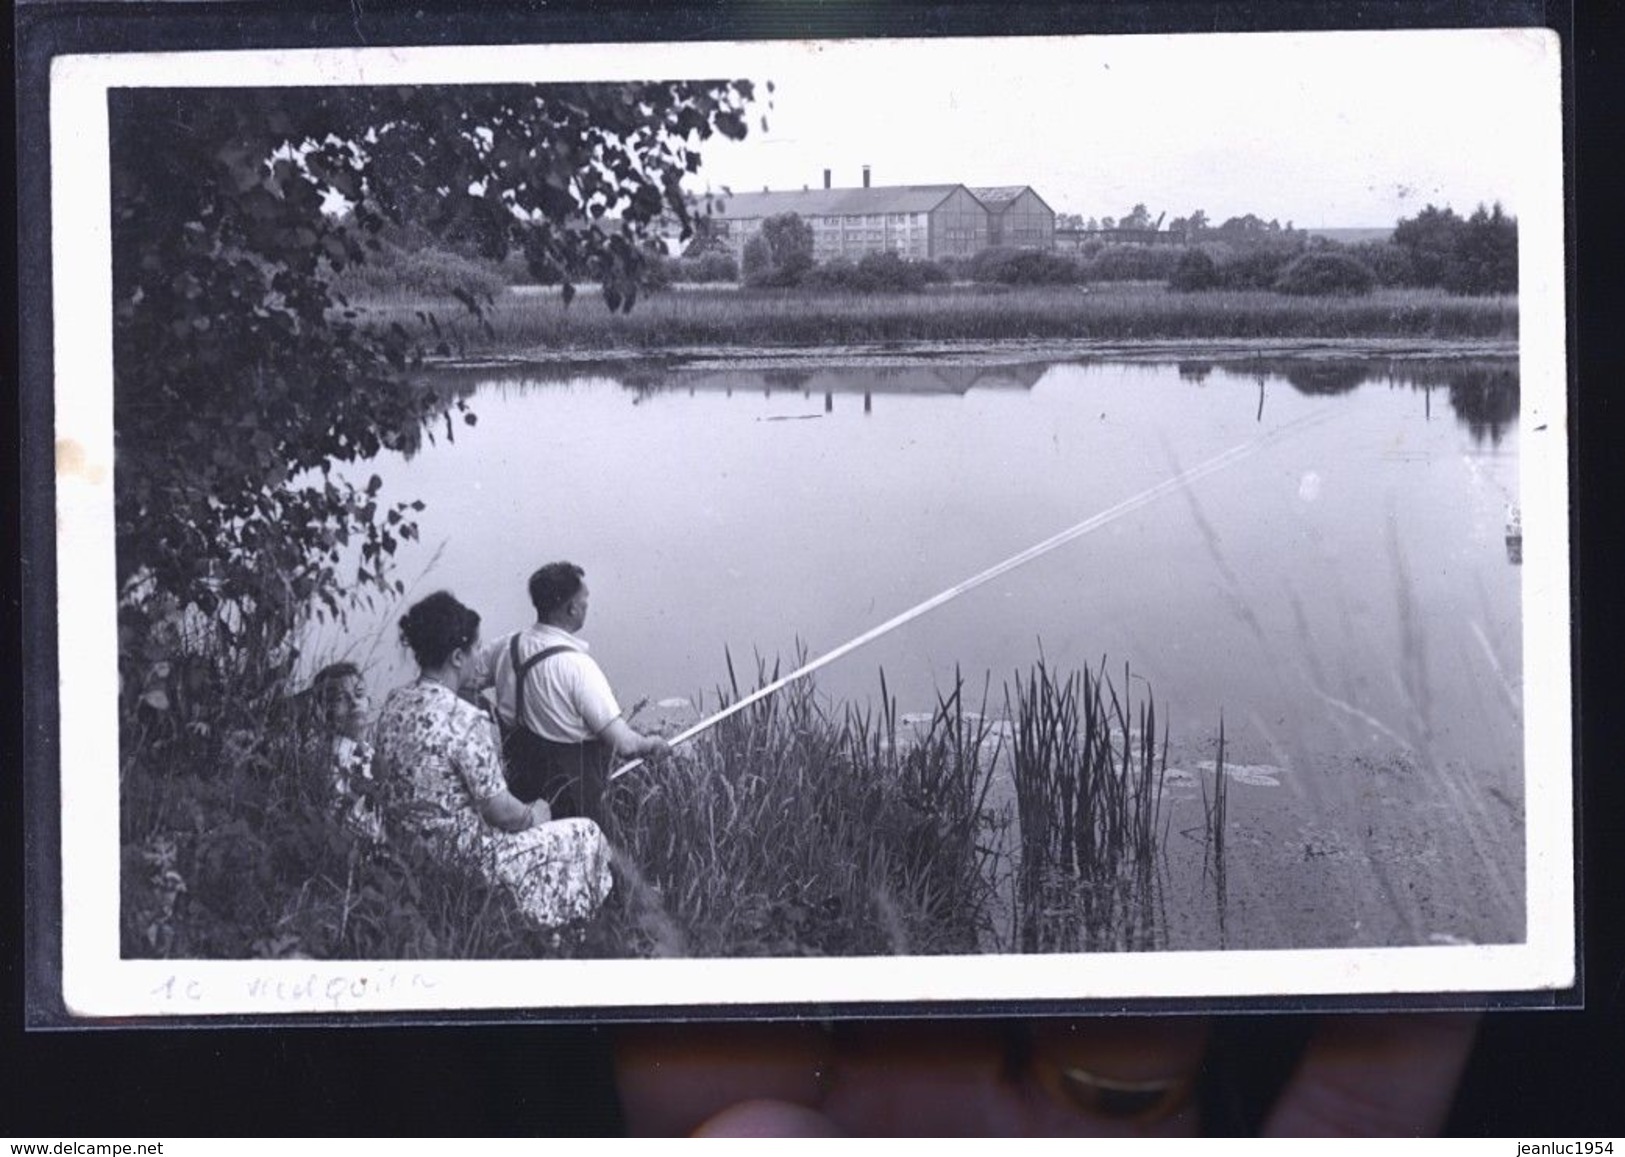
[[[1168,36],[1186,39],[1190,34]],[[832,67],[985,54],[985,41],[569,44],[63,55],[50,68],[62,996],[73,1017],[739,1009],[1020,1001],[1216,1001],[1557,993],[1576,983],[1570,656],[1568,375],[1560,44],[1540,28],[1204,34],[1513,37],[1528,117],[1519,206],[1526,941],[1503,946],[1087,956],[700,960],[132,960],[119,952],[112,284],[107,98],[115,88],[455,84],[770,76],[809,50]],[[1053,67],[1072,37],[1012,37]],[[1094,37],[1076,37],[1094,39]],[[1050,62],[1050,63],[1046,63]],[[949,65],[951,67],[951,65]]]

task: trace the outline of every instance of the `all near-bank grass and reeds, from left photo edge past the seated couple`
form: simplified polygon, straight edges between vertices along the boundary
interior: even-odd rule
[[[884,676],[878,708],[826,707],[809,682],[793,684],[696,739],[684,757],[616,782],[606,822],[616,890],[595,920],[554,936],[526,926],[505,892],[424,847],[353,837],[332,809],[315,720],[289,710],[275,679],[236,671],[218,666],[198,682],[213,691],[184,710],[125,715],[127,957],[886,956],[1146,944],[1147,868],[1159,853],[1155,712],[1149,700],[1138,708],[1139,734],[1152,741],[1128,751],[1121,736],[1133,710],[1100,676],[1063,679],[1040,665],[1014,697],[1006,691],[1008,725],[985,710],[986,692],[972,710],[959,679],[925,723],[899,718]],[[730,671],[722,697],[738,694]],[[1016,832],[993,791],[1011,744],[1014,770],[1004,774],[1020,793]]]

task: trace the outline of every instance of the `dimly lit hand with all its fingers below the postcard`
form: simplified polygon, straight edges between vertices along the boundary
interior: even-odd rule
[[[1435,1133],[1474,1030],[1462,1014],[1324,1017],[1264,1133]],[[1196,1017],[658,1025],[622,1030],[616,1072],[635,1134],[1193,1136],[1206,1037]]]

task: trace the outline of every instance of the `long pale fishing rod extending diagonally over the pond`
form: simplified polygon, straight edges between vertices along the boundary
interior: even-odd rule
[[[1066,530],[1063,530],[1063,531],[1060,531],[1056,535],[1051,535],[1050,538],[1043,540],[1042,543],[1029,546],[1025,551],[1020,551],[1019,554],[1012,554],[1011,557],[1004,559],[1003,562],[996,562],[994,566],[988,567],[982,574],[972,575],[970,578],[965,578],[964,582],[956,583],[956,585],[949,587],[947,590],[944,590],[944,592],[941,592],[938,595],[933,595],[931,598],[925,600],[923,603],[916,603],[915,606],[910,606],[902,614],[894,614],[890,619],[887,619],[886,622],[879,624],[878,627],[871,627],[871,629],[864,630],[856,639],[850,639],[850,640],[843,642],[840,647],[837,647],[835,650],[826,652],[824,655],[819,655],[817,658],[814,658],[814,660],[811,660],[808,663],[803,663],[801,666],[798,666],[790,674],[786,674],[783,678],[778,678],[778,679],[774,679],[772,682],[769,682],[764,687],[757,687],[756,691],[752,691],[744,699],[741,699],[741,700],[738,700],[734,704],[730,704],[728,707],[722,708],[715,715],[710,715],[710,717],[700,720],[699,723],[692,725],[691,728],[687,728],[684,731],[679,731],[678,734],[671,736],[666,743],[670,743],[673,748],[676,748],[679,743],[687,743],[694,736],[702,734],[702,733],[708,731],[710,728],[717,726],[725,718],[738,715],[739,712],[743,712],[751,704],[760,702],[762,699],[767,699],[769,696],[772,696],[777,691],[783,691],[785,687],[788,687],[796,679],[804,679],[806,676],[812,674],[819,668],[829,666],[835,660],[850,655],[852,652],[858,650],[864,644],[873,644],[881,635],[895,630],[897,627],[904,626],[905,622],[913,622],[921,614],[934,611],[936,608],[942,606],[944,603],[949,603],[949,601],[959,598],[965,592],[975,590],[977,587],[982,587],[983,583],[993,582],[999,575],[1009,574],[1016,567],[1025,566],[1027,562],[1032,562],[1034,559],[1037,559],[1042,554],[1048,554],[1050,551],[1056,549],[1058,546],[1064,546],[1066,543],[1079,540],[1084,535],[1094,533],[1094,531],[1100,530],[1102,526],[1107,526],[1107,525],[1116,522],[1118,518],[1121,518],[1121,517],[1124,517],[1128,514],[1133,514],[1134,510],[1139,510],[1144,505],[1149,505],[1149,504],[1155,502],[1157,499],[1164,497],[1165,494],[1172,494],[1173,491],[1178,491],[1178,489],[1181,489],[1181,488],[1185,488],[1185,486],[1188,486],[1188,484],[1191,484],[1191,483],[1194,483],[1194,481],[1198,481],[1201,478],[1207,478],[1209,474],[1216,474],[1220,470],[1224,470],[1225,466],[1233,466],[1237,462],[1242,462],[1243,458],[1248,458],[1248,457],[1258,453],[1259,450],[1263,450],[1271,442],[1279,442],[1287,434],[1297,432],[1298,429],[1303,429],[1305,426],[1308,426],[1311,422],[1321,421],[1323,418],[1326,418],[1328,413],[1329,413],[1328,410],[1320,410],[1316,413],[1305,414],[1303,418],[1298,418],[1298,419],[1295,419],[1292,422],[1287,422],[1285,426],[1279,426],[1277,429],[1274,429],[1274,431],[1271,431],[1268,434],[1263,434],[1263,436],[1259,436],[1259,437],[1256,437],[1256,439],[1253,439],[1250,442],[1243,442],[1242,445],[1230,447],[1224,453],[1214,455],[1207,462],[1202,462],[1202,463],[1199,463],[1196,466],[1191,466],[1190,470],[1181,470],[1173,478],[1160,481],[1155,486],[1152,486],[1149,489],[1144,489],[1139,494],[1134,494],[1133,497],[1123,499],[1116,505],[1108,507],[1107,510],[1102,510],[1100,514],[1086,518],[1084,522],[1077,523],[1076,526],[1068,526]],[[622,764],[621,767],[614,769],[609,774],[609,778],[611,780],[618,780],[622,775],[626,775],[627,772],[642,767],[644,762],[645,760],[642,760],[642,759],[634,759],[634,760],[630,760],[627,764]]]

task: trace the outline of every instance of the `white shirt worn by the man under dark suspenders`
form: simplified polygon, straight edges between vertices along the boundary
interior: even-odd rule
[[[595,739],[621,715],[614,691],[603,670],[587,655],[587,640],[561,627],[533,622],[523,630],[486,644],[474,655],[473,684],[496,687],[497,715],[514,723],[515,681],[510,640],[518,635],[523,663],[549,647],[569,647],[536,663],[525,676],[525,718],[522,723],[554,743]]]

